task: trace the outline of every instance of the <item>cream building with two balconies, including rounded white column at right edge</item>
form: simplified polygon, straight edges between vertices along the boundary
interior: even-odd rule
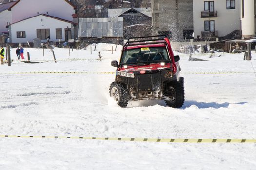
[[[194,0],[194,38],[253,37],[255,9],[256,0]]]

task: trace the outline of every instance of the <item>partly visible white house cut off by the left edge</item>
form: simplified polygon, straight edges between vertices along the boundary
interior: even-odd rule
[[[6,26],[12,21],[12,13],[8,11],[15,2],[0,4],[0,35],[7,34],[8,28]]]

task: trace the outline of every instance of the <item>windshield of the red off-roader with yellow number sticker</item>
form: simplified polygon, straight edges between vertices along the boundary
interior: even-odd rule
[[[124,51],[121,64],[169,61],[166,47],[142,47]]]

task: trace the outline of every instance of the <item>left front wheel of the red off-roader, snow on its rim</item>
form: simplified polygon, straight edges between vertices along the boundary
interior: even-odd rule
[[[125,86],[117,83],[117,82],[113,82],[110,85],[109,88],[109,94],[110,97],[114,98],[114,100],[117,102],[117,104],[121,107],[127,107],[128,105],[128,92],[125,89]]]

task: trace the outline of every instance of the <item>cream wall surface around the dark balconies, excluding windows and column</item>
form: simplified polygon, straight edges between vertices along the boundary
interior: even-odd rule
[[[204,11],[204,1],[214,1],[214,10],[217,11],[217,17],[201,18],[201,11]],[[235,9],[227,9],[226,0],[194,0],[194,38],[201,37],[204,31],[204,21],[214,20],[215,31],[218,37],[226,36],[234,30],[240,30],[240,0],[235,0]]]

